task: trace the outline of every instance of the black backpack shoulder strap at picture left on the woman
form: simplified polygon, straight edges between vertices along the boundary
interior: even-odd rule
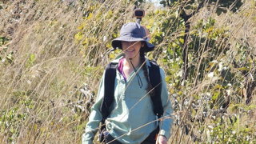
[[[118,63],[110,62],[106,66],[105,78],[104,78],[104,97],[100,111],[102,112],[102,123],[105,122],[106,118],[110,114],[110,106],[114,101],[114,80],[116,76],[116,69]]]

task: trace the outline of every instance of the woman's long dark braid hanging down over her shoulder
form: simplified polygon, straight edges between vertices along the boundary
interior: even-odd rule
[[[153,94],[154,90],[152,90],[152,85],[150,83],[149,72],[147,70],[146,63],[144,63],[146,61],[144,49],[145,49],[144,47],[141,48],[141,50],[139,51],[139,55],[140,55],[140,60],[143,64],[142,70],[146,77],[146,82],[148,83],[146,90],[147,90],[147,92],[150,92],[150,95],[151,95],[151,94]],[[152,91],[150,91],[150,90],[152,90]]]

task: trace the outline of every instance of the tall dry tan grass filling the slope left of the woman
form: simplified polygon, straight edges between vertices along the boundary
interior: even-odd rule
[[[132,2],[101,4],[50,0],[2,4],[1,35],[10,42],[1,47],[0,106],[10,123],[3,125],[1,142],[81,142],[90,106],[90,102],[84,106],[88,99],[82,92],[97,91],[102,65],[108,61],[106,43],[133,10]],[[116,17],[107,18],[110,10]],[[105,15],[97,18],[97,14]],[[83,46],[86,38],[94,41]],[[79,108],[85,111],[77,114]]]

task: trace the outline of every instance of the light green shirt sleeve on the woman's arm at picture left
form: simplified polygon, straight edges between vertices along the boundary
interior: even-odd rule
[[[82,144],[93,144],[94,136],[99,128],[99,122],[102,121],[102,113],[100,112],[100,107],[102,104],[102,98],[104,96],[104,76],[105,72],[99,85],[96,102],[90,109],[89,121],[86,124],[85,133],[82,134]]]

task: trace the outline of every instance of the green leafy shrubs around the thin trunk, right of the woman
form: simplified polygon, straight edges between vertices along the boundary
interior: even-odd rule
[[[167,2],[165,4],[167,5]],[[196,11],[195,8],[198,5],[193,7],[193,3],[186,4],[185,9]],[[211,1],[210,4],[214,4],[214,1]],[[230,1],[220,1],[218,4],[218,6],[230,8],[229,5]],[[230,10],[234,12],[240,6],[234,5],[235,8],[230,8]],[[157,10],[154,14],[149,14],[149,19],[146,19],[147,25],[152,31],[150,41],[157,46],[161,45],[157,47],[158,50],[155,50],[156,57],[154,58],[162,58],[158,61],[166,66],[166,82],[170,85],[170,94],[174,98],[174,110],[176,112],[188,111],[183,122],[181,122],[182,116],[175,115],[175,124],[195,142],[232,143],[239,138],[241,139],[240,143],[246,143],[246,140],[242,139],[246,139],[247,134],[249,135],[248,141],[253,142],[252,139],[255,138],[255,135],[250,134],[253,129],[242,127],[241,130],[238,130],[238,126],[245,126],[245,124],[237,122],[235,120],[237,116],[228,111],[232,109],[230,105],[244,102],[241,87],[248,86],[247,91],[249,92],[245,91],[245,93],[253,93],[254,83],[246,82],[249,74],[251,77],[255,77],[253,64],[255,57],[250,52],[252,47],[246,39],[242,39],[241,42],[231,42],[230,35],[233,34],[233,28],[225,25],[219,26],[220,19],[215,19],[218,17],[195,20],[189,31],[187,43],[189,77],[184,84],[180,80],[182,78],[182,48],[184,45],[182,31],[186,21],[183,18],[175,17],[175,10],[179,9],[173,3],[170,9]],[[190,13],[188,12],[187,15]],[[151,24],[150,17],[154,15],[161,18],[154,18],[154,24]],[[179,31],[178,34],[176,30]],[[176,35],[172,35],[174,33]],[[172,38],[173,36],[174,38]],[[235,44],[232,45],[233,43]],[[204,85],[207,82],[209,83]],[[193,90],[196,90],[197,87],[202,89],[200,92],[194,93]],[[193,100],[190,105],[191,99]],[[244,108],[244,106],[241,107]],[[246,109],[246,112],[249,111]],[[223,114],[228,117],[224,118]],[[226,122],[227,119],[231,119],[230,122]],[[210,128],[204,127],[208,126],[207,122],[209,121],[210,124],[214,124],[213,128],[211,126]],[[210,133],[204,137],[202,135],[207,133],[206,129],[210,130]],[[197,134],[198,130],[201,131],[201,134]],[[182,136],[180,137],[182,138]],[[205,138],[210,139],[206,140]]]

